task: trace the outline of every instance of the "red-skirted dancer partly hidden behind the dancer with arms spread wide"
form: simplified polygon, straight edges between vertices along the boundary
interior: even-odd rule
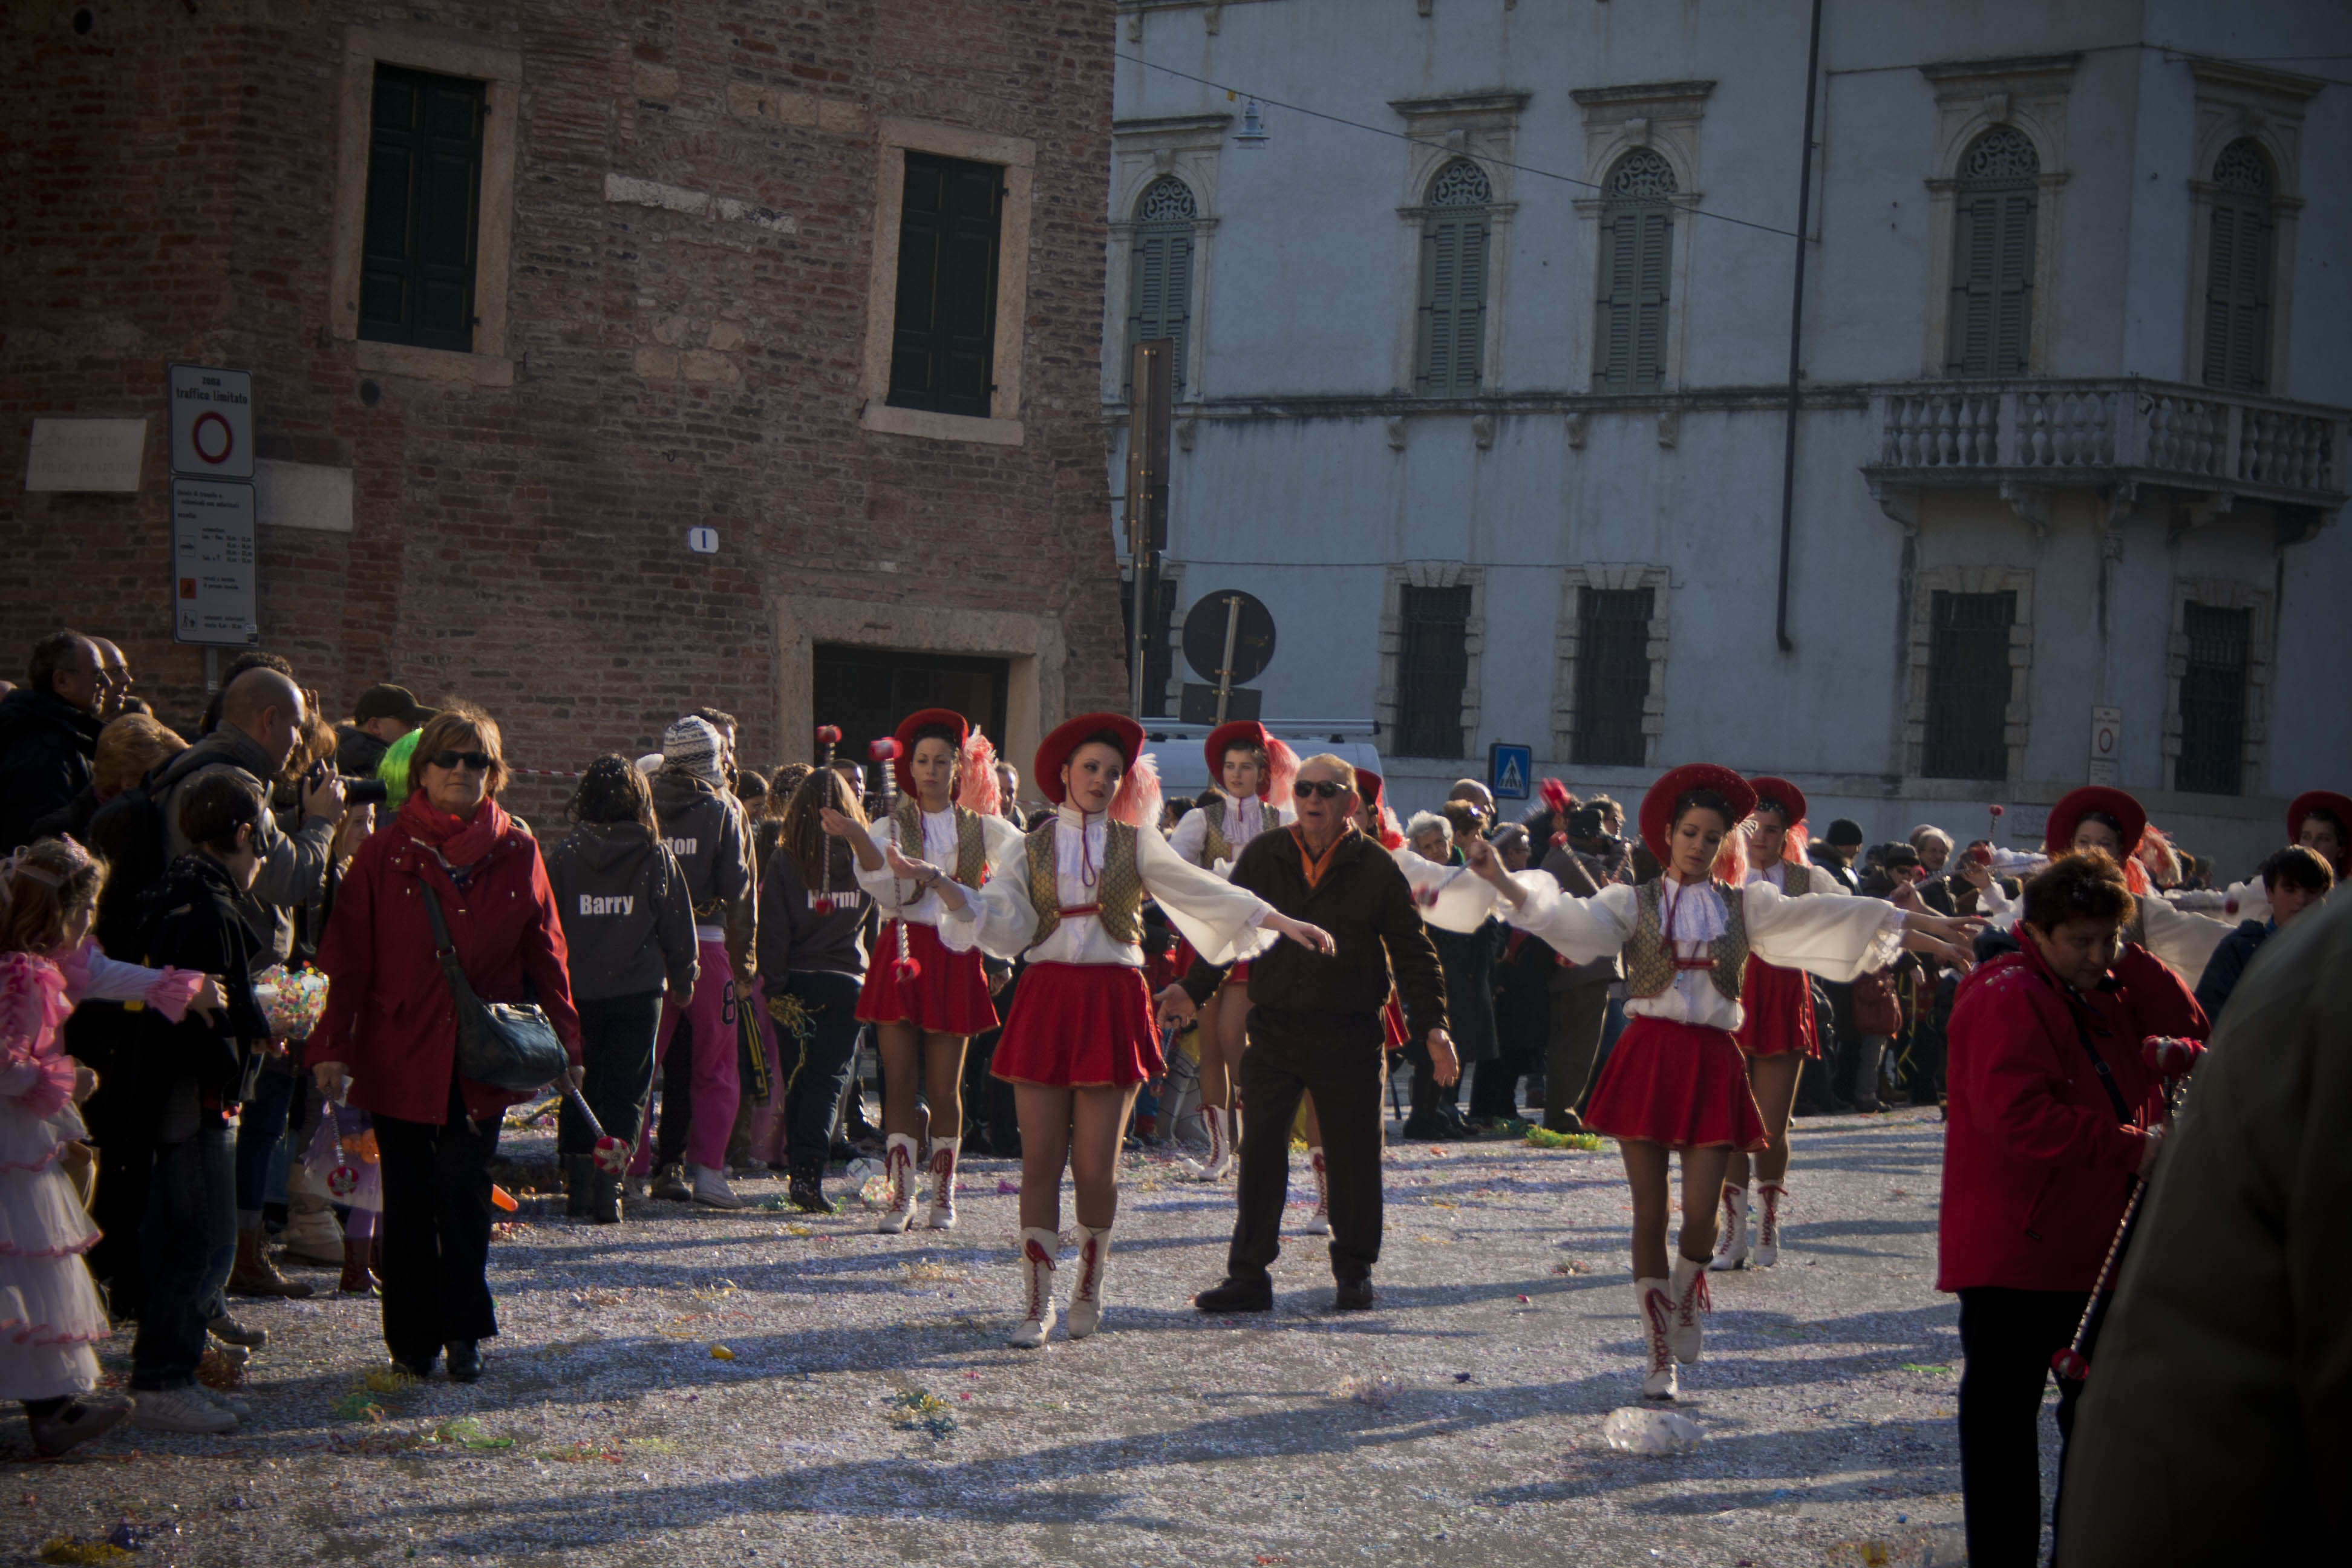
[[[1804,790],[1785,778],[1750,778],[1757,811],[1748,818],[1748,882],[1769,882],[1783,898],[1851,898],[1844,882],[1804,853]],[[1748,954],[1740,985],[1740,1027],[1731,1034],[1748,1058],[1748,1088],[1764,1117],[1769,1147],[1755,1154],[1757,1234],[1748,1246],[1748,1150],[1731,1150],[1724,1166],[1724,1218],[1715,1239],[1715,1269],[1780,1262],[1780,1208],[1788,1204],[1788,1121],[1797,1110],[1804,1058],[1820,1056],[1813,1027],[1813,983],[1802,969],[1780,969]]]

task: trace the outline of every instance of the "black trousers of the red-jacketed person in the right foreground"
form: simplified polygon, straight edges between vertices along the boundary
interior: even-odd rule
[[[1971,1568],[2034,1568],[2042,1559],[2042,1389],[2051,1356],[2074,1340],[2089,1291],[1959,1293],[1959,1488]],[[2084,1340],[2098,1342],[2105,1302]],[[2058,1472],[2084,1385],[2058,1380]],[[2051,1500],[2056,1528],[2058,1500]]]

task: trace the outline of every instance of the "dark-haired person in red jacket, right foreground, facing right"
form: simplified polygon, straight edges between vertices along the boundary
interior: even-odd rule
[[[2124,943],[2131,917],[2122,867],[2070,853],[2025,884],[2018,952],[1980,966],[1952,1004],[1936,1288],[1959,1293],[1959,1476],[1978,1568],[2039,1559],[2034,1422],[2051,1356],[2074,1338],[2164,1138],[2140,1041],[2204,1034],[2180,978]],[[2060,1446],[2079,1394],[2058,1385]]]

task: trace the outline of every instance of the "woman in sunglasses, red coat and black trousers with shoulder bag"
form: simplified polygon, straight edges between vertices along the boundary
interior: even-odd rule
[[[318,947],[327,1013],[306,1053],[320,1093],[376,1119],[383,1161],[383,1342],[423,1378],[482,1375],[499,1333],[489,1302],[489,1157],[499,1119],[529,1095],[461,1079],[456,1004],[433,957],[430,893],[482,1001],[536,1001],[581,1081],[581,1025],[564,929],[539,844],[492,799],[506,783],[499,726],[468,703],[426,722],[409,799],[343,872]]]

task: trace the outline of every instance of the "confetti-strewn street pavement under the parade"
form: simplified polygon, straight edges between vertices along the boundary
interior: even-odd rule
[[[1952,1563],[1938,1147],[1933,1112],[1799,1124],[1788,1251],[1715,1279],[1682,1458],[1599,1436],[1639,1403],[1613,1152],[1392,1147],[1378,1307],[1334,1316],[1298,1237],[1261,1319],[1188,1307],[1230,1187],[1134,1157],[1105,1333],[1044,1354],[1002,1342],[1016,1171],[983,1159],[962,1227],[906,1237],[779,1180],[616,1229],[527,1199],[475,1387],[390,1387],[372,1302],[240,1305],[275,1335],[254,1420],[66,1462],[12,1420],[0,1561],[129,1521],[158,1566]]]

